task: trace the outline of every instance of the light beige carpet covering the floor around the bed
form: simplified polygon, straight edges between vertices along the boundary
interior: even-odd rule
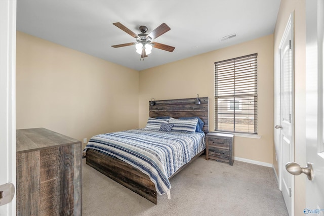
[[[272,168],[200,156],[171,180],[157,205],[83,160],[83,215],[288,215]]]

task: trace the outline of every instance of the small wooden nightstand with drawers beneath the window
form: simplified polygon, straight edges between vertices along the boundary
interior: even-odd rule
[[[233,134],[221,134],[211,132],[206,135],[206,160],[220,160],[228,162],[229,165],[233,165],[233,151]]]

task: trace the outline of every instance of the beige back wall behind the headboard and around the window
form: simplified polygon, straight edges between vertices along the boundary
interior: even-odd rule
[[[235,157],[272,164],[273,35],[140,71],[139,126],[149,116],[148,101],[209,97],[210,131],[214,131],[214,63],[258,53],[258,130],[261,139],[235,137]]]

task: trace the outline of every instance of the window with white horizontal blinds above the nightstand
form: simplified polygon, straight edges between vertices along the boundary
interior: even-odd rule
[[[215,131],[258,133],[257,56],[215,62]]]

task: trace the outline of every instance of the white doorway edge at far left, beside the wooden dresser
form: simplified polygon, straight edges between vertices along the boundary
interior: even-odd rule
[[[15,0],[0,1],[0,48],[0,215],[5,216],[16,215],[16,199],[4,204],[8,187],[3,187],[16,185]]]

